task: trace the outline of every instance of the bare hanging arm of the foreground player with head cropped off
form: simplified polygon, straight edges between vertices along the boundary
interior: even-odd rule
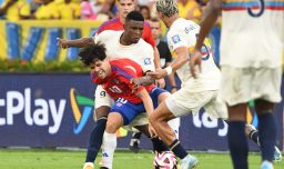
[[[211,31],[211,29],[214,27],[219,16],[220,16],[221,8],[222,8],[222,0],[211,0],[205,9],[203,19],[201,20],[200,34],[196,40],[196,44],[195,44],[193,54],[190,59],[190,69],[191,69],[191,73],[194,78],[196,78],[194,67],[199,66],[200,70],[201,70],[202,54],[201,54],[200,50],[203,46],[203,41],[206,38],[206,36],[209,34],[209,32]]]

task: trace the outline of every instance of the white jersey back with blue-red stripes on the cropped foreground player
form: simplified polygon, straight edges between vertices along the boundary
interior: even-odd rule
[[[224,0],[221,64],[276,68],[284,49],[283,0]]]

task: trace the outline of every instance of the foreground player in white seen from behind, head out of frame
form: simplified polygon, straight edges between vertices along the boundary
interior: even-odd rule
[[[276,142],[273,109],[281,101],[284,49],[283,0],[211,0],[191,67],[201,66],[203,40],[222,10],[221,95],[229,109],[227,141],[235,169],[247,169],[245,121],[248,100],[258,117],[262,169],[272,169]],[[195,70],[191,69],[195,74]]]

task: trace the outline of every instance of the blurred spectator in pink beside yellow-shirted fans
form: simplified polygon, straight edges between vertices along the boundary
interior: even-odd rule
[[[89,0],[82,0],[81,2],[81,19],[82,20],[94,20],[97,13],[92,8],[92,3]]]

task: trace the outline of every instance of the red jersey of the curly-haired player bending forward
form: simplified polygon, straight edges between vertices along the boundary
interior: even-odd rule
[[[140,87],[133,91],[133,84],[131,79],[143,77],[144,72],[140,64],[130,59],[114,59],[110,61],[112,72],[103,80],[98,79],[94,74],[92,80],[94,83],[101,84],[104,90],[114,100],[123,98],[134,105],[141,103],[142,100],[136,96],[142,89],[146,89],[149,92],[154,88],[153,84],[146,87]]]

